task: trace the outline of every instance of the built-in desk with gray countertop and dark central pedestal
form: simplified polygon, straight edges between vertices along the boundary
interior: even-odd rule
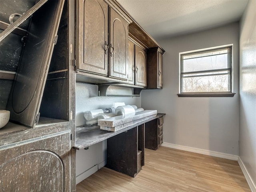
[[[106,167],[135,177],[144,165],[145,123],[162,117],[145,117],[135,120],[132,126],[109,132],[100,130],[100,126],[76,127],[75,149],[87,147],[107,139]]]

